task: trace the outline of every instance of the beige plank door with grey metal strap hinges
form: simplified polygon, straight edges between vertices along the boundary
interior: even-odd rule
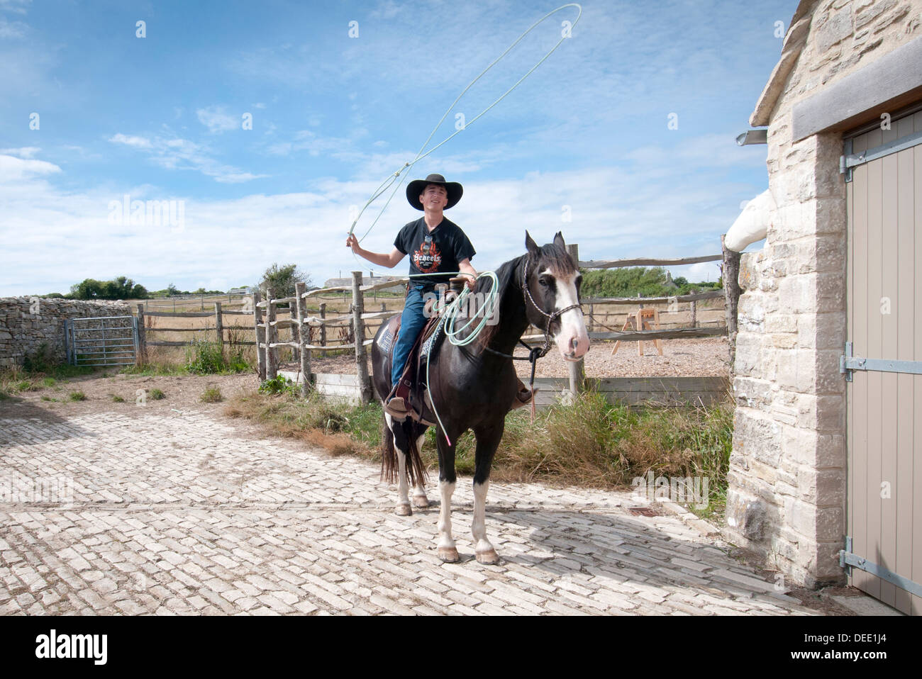
[[[918,107],[916,107],[917,110]],[[895,118],[896,116],[894,116]],[[922,111],[846,135],[848,487],[840,563],[922,613]]]

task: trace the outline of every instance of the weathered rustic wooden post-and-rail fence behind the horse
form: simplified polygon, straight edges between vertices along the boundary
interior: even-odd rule
[[[625,259],[614,261],[580,261],[579,246],[568,245],[574,261],[579,262],[580,268],[585,269],[609,269],[627,266],[665,266],[681,265],[700,262],[715,262],[722,260],[724,270],[727,266],[733,264],[733,255],[736,253],[724,249],[722,254],[708,255],[703,257],[687,257],[681,259]],[[727,258],[730,258],[729,262]],[[739,254],[736,255],[736,263],[739,265]],[[137,315],[139,317],[138,327],[140,329],[138,361],[147,360],[148,346],[182,346],[187,342],[178,341],[148,341],[146,338],[146,329],[144,316],[161,316],[161,317],[214,317],[215,324],[205,328],[150,328],[156,331],[168,332],[214,332],[215,341],[220,345],[254,345],[256,347],[257,369],[259,379],[273,379],[279,374],[281,352],[290,352],[292,362],[296,369],[286,370],[284,374],[301,383],[301,392],[306,394],[312,386],[321,393],[332,396],[354,397],[361,403],[368,403],[372,399],[372,383],[368,372],[368,360],[366,347],[372,344],[377,327],[385,318],[395,314],[398,310],[385,310],[384,302],[381,304],[381,310],[366,311],[366,296],[371,293],[376,296],[378,290],[404,285],[408,283],[408,278],[391,279],[374,285],[362,285],[361,272],[352,272],[352,284],[350,286],[327,287],[313,290],[306,290],[304,284],[299,283],[295,289],[294,297],[274,298],[272,290],[266,290],[266,298],[262,299],[259,292],[255,292],[252,299],[243,300],[241,310],[222,309],[222,302],[215,301],[214,310],[209,311],[184,311],[184,312],[167,312],[145,310],[143,304],[137,305]],[[727,276],[725,276],[727,280]],[[731,286],[732,288],[732,286]],[[331,294],[346,293],[346,298],[351,299],[349,310],[336,316],[327,317],[325,313],[325,303],[320,303],[316,309],[308,308],[308,300],[324,299]],[[736,305],[739,298],[739,287],[736,290],[711,290],[691,295],[681,295],[676,297],[662,298],[585,298],[583,303],[589,306],[588,330],[591,340],[621,340],[621,341],[645,341],[655,339],[677,339],[686,337],[708,337],[730,334],[731,337],[731,357],[733,338],[736,334]],[[708,299],[725,299],[724,315],[726,324],[715,324],[712,319],[707,322],[698,321],[698,302]],[[402,299],[395,298],[400,303]],[[627,312],[611,313],[605,311],[609,305],[618,306],[637,306],[644,308],[644,305],[662,305],[667,304],[668,310],[662,313],[679,312],[680,305],[689,305],[691,323],[686,327],[677,327],[675,323],[664,323],[664,326],[656,330],[632,330],[618,331],[614,330],[607,322],[612,316],[626,316]],[[288,309],[283,309],[288,307]],[[225,338],[227,327],[240,328],[241,326],[225,326],[222,317],[228,314],[248,314],[253,316],[252,329],[254,331],[253,342],[231,341]],[[601,325],[605,327],[604,331],[596,331],[595,328]],[[280,334],[279,331],[282,331]],[[337,331],[337,336],[331,336],[331,330]],[[526,331],[527,333],[528,331]],[[284,336],[282,336],[284,335]],[[371,335],[371,336],[369,336]],[[535,334],[526,334],[523,340],[529,344],[540,344],[544,340],[543,333],[535,329]],[[326,352],[329,350],[349,350],[354,353],[356,372],[354,379],[349,375],[327,375],[314,374],[311,371],[311,357],[313,352]],[[732,363],[731,363],[732,365]],[[690,400],[713,401],[715,398],[722,397],[727,392],[728,381],[726,378],[605,378],[602,380],[586,380],[585,367],[583,361],[568,363],[569,378],[567,379],[546,379],[538,380],[538,384],[543,384],[543,391],[546,394],[560,394],[564,391],[572,393],[581,392],[587,387],[592,386],[602,392],[610,393],[612,399],[618,399],[628,403],[635,403],[638,400],[654,400],[668,403],[678,403],[682,394],[690,396]],[[304,376],[310,376],[304,379]],[[621,380],[621,381],[619,381]],[[638,388],[636,385],[645,385]],[[632,386],[633,385],[633,386]],[[566,387],[566,389],[564,389]],[[719,394],[719,395],[718,395]],[[544,403],[546,397],[539,397],[538,404]],[[550,398],[550,396],[547,396]]]

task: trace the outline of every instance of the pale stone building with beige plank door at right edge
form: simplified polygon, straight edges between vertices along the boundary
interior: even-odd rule
[[[800,2],[750,120],[768,127],[775,207],[740,263],[726,529],[789,582],[848,581],[916,614],[920,111],[922,0]],[[846,342],[904,363],[842,371]]]

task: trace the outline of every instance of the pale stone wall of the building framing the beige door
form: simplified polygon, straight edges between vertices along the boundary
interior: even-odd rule
[[[783,56],[775,70],[789,76],[766,88],[777,88],[767,160],[777,211],[762,251],[740,263],[726,536],[815,586],[845,580],[845,181],[842,135],[795,143],[791,111],[915,39],[922,3],[826,0],[812,13],[809,5],[798,7],[783,48],[799,51],[796,63]],[[764,124],[765,106],[763,94],[753,123]]]

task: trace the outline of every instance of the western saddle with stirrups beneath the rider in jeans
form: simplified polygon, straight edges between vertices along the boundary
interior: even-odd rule
[[[405,396],[408,405],[408,416],[428,427],[435,426],[435,414],[432,409],[429,390],[425,383],[426,365],[431,353],[438,348],[440,341],[443,339],[440,330],[445,309],[457,296],[460,287],[463,286],[463,281],[463,278],[453,278],[452,289],[444,292],[440,299],[431,299],[426,302],[425,310],[429,321],[423,327],[412,349],[410,349],[407,366],[400,376],[400,387],[402,387],[400,392],[408,394],[408,397]],[[444,288],[444,286],[437,287]],[[436,302],[438,302],[438,307],[434,307]],[[400,318],[400,315],[397,314],[387,321],[387,327],[379,340],[379,345],[388,354],[391,353],[400,334]],[[392,388],[392,392],[397,392],[397,389]],[[522,380],[518,380],[518,389],[513,398],[511,409],[514,410],[530,404],[534,396],[534,392],[529,390]]]

